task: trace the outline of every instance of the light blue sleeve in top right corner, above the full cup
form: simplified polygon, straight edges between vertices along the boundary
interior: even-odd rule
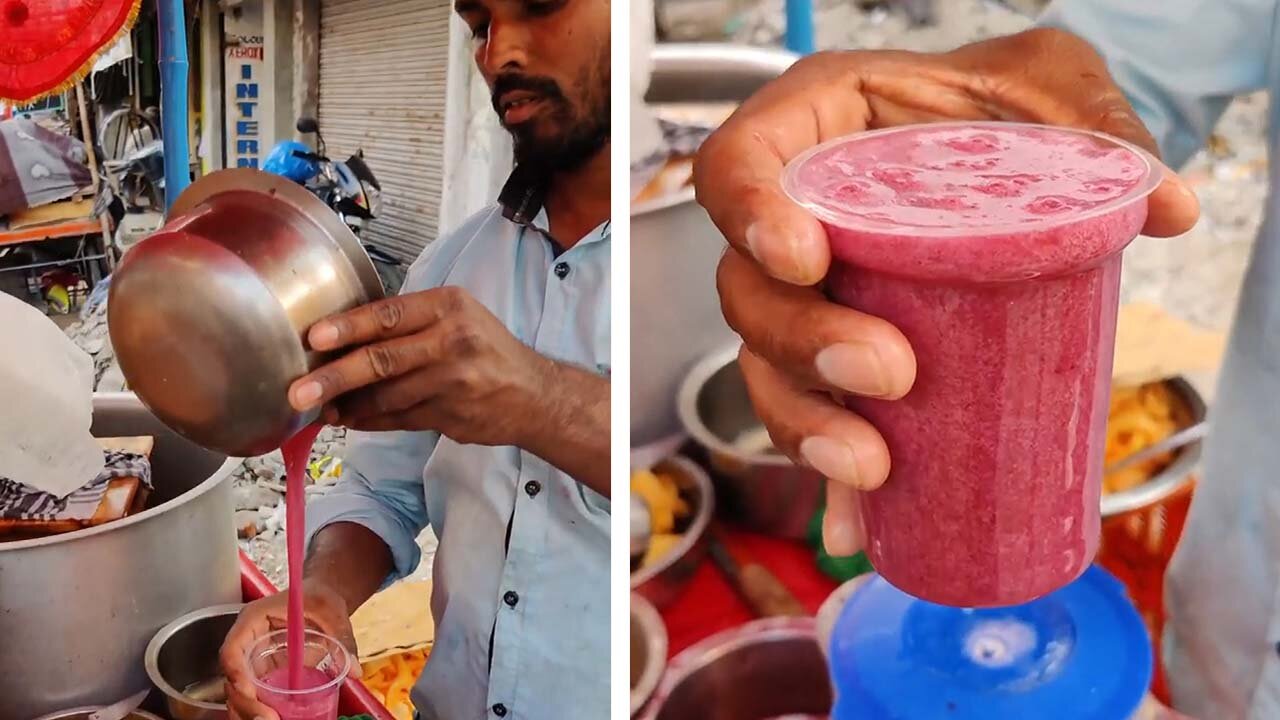
[[[1265,87],[1275,13],[1276,0],[1056,0],[1038,24],[1106,58],[1165,163],[1179,168],[1233,97]]]

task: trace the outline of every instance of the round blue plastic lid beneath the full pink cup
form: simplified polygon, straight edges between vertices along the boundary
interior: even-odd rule
[[[1152,673],[1142,618],[1098,566],[1025,605],[978,610],[872,575],[829,653],[832,720],[1117,720],[1138,711]]]

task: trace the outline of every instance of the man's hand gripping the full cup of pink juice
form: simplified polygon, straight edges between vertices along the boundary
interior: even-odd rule
[[[833,555],[861,544],[854,493],[879,487],[890,457],[879,433],[828,392],[901,397],[915,357],[888,323],[813,287],[831,263],[827,236],[778,181],[788,160],[819,142],[945,119],[1089,128],[1157,151],[1087,42],[1033,29],[945,54],[812,55],[744,102],[695,164],[698,201],[732,246],[717,286],[745,342],[751,400],[780,450],[832,480],[823,532]],[[1194,193],[1167,169],[1148,205],[1149,236],[1180,234],[1199,215]]]

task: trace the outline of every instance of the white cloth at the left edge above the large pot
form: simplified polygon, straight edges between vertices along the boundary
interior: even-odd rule
[[[0,478],[65,497],[102,470],[93,359],[52,320],[0,293]]]

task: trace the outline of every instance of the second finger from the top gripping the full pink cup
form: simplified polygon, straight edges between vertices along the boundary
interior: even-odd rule
[[[818,290],[767,277],[730,250],[717,277],[724,318],[746,345],[809,387],[897,398],[915,382],[915,355],[897,328],[836,305]]]

